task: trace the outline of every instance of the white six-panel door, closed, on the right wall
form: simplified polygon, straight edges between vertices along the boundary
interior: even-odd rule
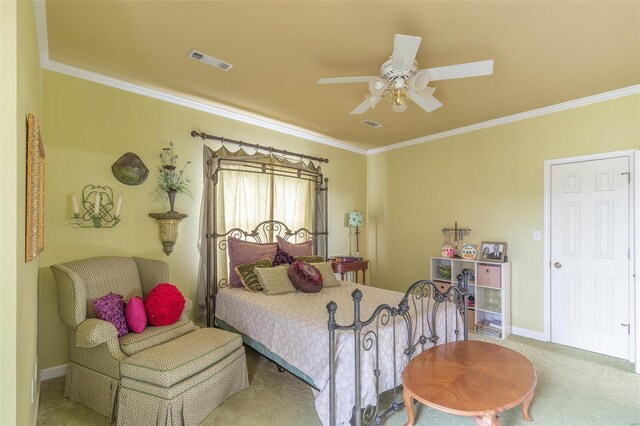
[[[629,158],[551,166],[551,341],[629,358]]]

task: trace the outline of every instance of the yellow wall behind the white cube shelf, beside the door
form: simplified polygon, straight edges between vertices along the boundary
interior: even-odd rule
[[[468,242],[506,241],[512,325],[543,331],[544,167],[547,159],[640,147],[634,95],[370,156],[367,251],[377,286],[429,277],[441,228]]]

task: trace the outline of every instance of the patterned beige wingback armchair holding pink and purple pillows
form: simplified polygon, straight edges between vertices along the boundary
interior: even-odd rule
[[[147,327],[118,339],[113,324],[96,318],[93,301],[109,292],[125,300],[144,297],[169,280],[165,262],[138,257],[94,257],[51,267],[58,286],[58,310],[69,335],[65,397],[113,420],[121,362],[197,327],[189,320],[187,300],[177,323]]]

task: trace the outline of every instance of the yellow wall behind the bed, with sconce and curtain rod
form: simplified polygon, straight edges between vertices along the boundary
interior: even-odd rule
[[[43,73],[47,148],[47,249],[40,270],[40,363],[43,368],[68,362],[67,337],[58,318],[52,264],[98,255],[136,255],[166,260],[171,281],[195,300],[202,141],[193,129],[232,139],[329,158],[322,166],[329,178],[330,254],[348,251],[342,213],[366,207],[366,157],[270,130],[213,116],[167,102],[124,92],[62,74]],[[193,199],[178,195],[176,210],[187,213],[174,252],[162,252],[158,225],[149,212],[167,211],[154,194],[155,169],[162,147],[174,143],[180,161],[193,162]],[[211,146],[217,146],[212,144]],[[232,148],[235,149],[235,148]],[[134,152],[151,170],[146,182],[127,186],[111,173],[125,152]],[[122,195],[122,222],[113,229],[71,224],[70,195],[87,184],[109,185]],[[166,196],[165,196],[166,197]]]

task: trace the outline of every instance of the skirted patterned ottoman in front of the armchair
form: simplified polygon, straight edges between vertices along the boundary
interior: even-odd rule
[[[120,367],[118,425],[196,425],[249,386],[242,338],[201,328],[138,352]]]

